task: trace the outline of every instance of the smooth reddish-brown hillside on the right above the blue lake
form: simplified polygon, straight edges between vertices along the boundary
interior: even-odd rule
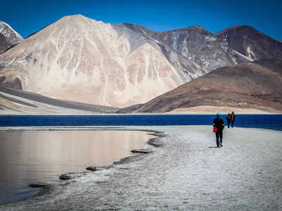
[[[196,106],[282,112],[282,60],[259,60],[214,70],[133,110],[164,113]]]

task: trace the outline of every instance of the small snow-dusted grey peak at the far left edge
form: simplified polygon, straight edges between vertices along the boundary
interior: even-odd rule
[[[15,46],[22,40],[23,37],[13,30],[10,25],[0,21],[0,53],[3,53],[12,46]]]

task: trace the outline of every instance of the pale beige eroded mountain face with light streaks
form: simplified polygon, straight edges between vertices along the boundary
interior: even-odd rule
[[[182,84],[151,42],[133,48],[110,24],[82,15],[62,18],[5,53],[2,84],[104,106],[148,101]]]

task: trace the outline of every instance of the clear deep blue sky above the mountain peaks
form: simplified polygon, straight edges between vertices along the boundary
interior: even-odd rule
[[[104,23],[133,23],[149,30],[200,25],[210,32],[250,25],[282,41],[282,0],[1,0],[0,20],[23,37],[66,15]]]

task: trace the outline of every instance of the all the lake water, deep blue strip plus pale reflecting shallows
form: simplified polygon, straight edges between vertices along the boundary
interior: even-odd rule
[[[37,189],[27,187],[33,182],[54,181],[63,173],[81,172],[90,165],[112,164],[130,155],[131,149],[147,148],[145,142],[149,139],[146,132],[11,130],[13,127],[211,125],[214,117],[215,115],[1,115],[0,203],[34,195]],[[226,122],[226,115],[221,118]],[[282,131],[282,115],[236,115],[235,126]]]

